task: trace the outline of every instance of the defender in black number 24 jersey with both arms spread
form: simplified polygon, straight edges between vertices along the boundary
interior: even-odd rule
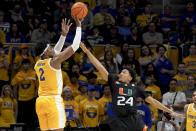
[[[82,42],[80,43],[80,47],[87,54],[104,80],[108,81],[112,92],[112,106],[116,116],[105,120],[100,125],[101,130],[106,130],[107,128],[107,131],[147,131],[147,126],[136,113],[135,106],[138,96],[143,97],[146,102],[160,110],[169,112],[173,116],[183,117],[183,115],[173,112],[159,101],[148,96],[140,87],[132,84],[131,82],[135,78],[135,73],[132,69],[124,68],[118,78],[116,75],[109,74]]]

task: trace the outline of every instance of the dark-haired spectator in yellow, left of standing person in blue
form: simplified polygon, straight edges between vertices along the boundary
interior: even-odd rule
[[[140,50],[140,57],[138,59],[142,70],[144,70],[145,66],[149,64],[154,59],[154,54],[148,45],[143,45]]]

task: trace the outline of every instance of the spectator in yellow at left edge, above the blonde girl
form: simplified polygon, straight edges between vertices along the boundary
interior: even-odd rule
[[[8,69],[10,64],[10,57],[5,54],[3,44],[0,43],[0,93],[3,85],[9,84]]]

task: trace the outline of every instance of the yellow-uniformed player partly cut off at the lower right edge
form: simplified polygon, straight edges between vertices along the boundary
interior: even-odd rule
[[[196,91],[193,92],[192,99],[193,103],[187,104],[184,107],[186,119],[184,119],[179,131],[183,131],[185,126],[186,131],[196,130]]]

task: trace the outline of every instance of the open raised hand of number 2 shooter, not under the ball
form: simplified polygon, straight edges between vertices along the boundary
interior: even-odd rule
[[[62,30],[62,35],[66,36],[67,33],[69,32],[69,28],[71,27],[72,23],[70,23],[70,20],[67,21],[67,19],[62,19],[61,22],[61,30]]]

